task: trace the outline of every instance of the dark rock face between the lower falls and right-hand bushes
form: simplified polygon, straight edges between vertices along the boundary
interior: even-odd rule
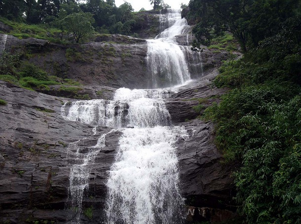
[[[196,118],[225,93],[225,89],[211,87],[210,81],[216,75],[214,70],[166,100],[173,123],[185,126],[189,135],[188,140],[180,140],[177,145],[182,195],[188,206],[198,207],[193,215],[189,214],[188,221],[219,222],[235,216],[235,209],[226,206],[233,204],[230,174],[234,167],[221,163],[223,156],[213,142],[213,124]],[[203,99],[201,112],[193,110],[200,104],[197,99]],[[201,207],[208,210],[206,215],[198,212]]]

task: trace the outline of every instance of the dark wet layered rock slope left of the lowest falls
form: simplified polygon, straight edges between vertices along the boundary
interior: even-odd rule
[[[0,107],[0,223],[65,223],[69,218],[69,212],[64,210],[70,173],[68,145],[83,139],[83,149],[94,146],[101,134],[111,129],[99,127],[93,135],[92,126],[64,120],[60,115],[62,102],[71,99],[32,92],[2,81],[0,96],[7,102]],[[92,164],[87,194],[94,198],[95,208],[104,205],[107,171],[119,135],[120,132],[107,135],[106,146]],[[91,202],[89,197],[85,200]]]

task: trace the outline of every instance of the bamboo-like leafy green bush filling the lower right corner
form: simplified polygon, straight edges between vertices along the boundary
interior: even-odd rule
[[[300,221],[300,108],[299,95],[264,103],[259,113],[238,120],[236,143],[243,146],[243,166],[234,174],[240,189],[236,199],[250,223]]]

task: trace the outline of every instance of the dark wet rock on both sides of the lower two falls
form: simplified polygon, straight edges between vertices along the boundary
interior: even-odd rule
[[[187,198],[186,204],[225,209],[223,203],[228,203],[231,198],[232,167],[220,162],[222,155],[213,143],[212,123],[194,119],[198,114],[192,109],[198,104],[195,98],[223,94],[209,86],[209,80],[215,75],[214,72],[205,75],[173,94],[166,100],[166,105],[173,123],[185,126],[189,135],[188,140],[178,141],[177,149],[180,188]],[[64,120],[60,115],[61,106],[72,99],[32,92],[2,81],[0,97],[7,102],[0,106],[0,223],[7,220],[12,224],[72,220],[75,212],[66,210],[73,159],[68,145],[80,140],[84,153],[111,129],[97,127],[93,135],[93,126]],[[93,206],[93,220],[97,222],[82,215],[82,223],[105,222],[105,183],[120,134],[116,130],[106,136],[105,147],[91,167],[83,208]]]

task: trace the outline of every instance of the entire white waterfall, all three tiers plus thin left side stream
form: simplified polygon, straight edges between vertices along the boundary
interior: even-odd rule
[[[184,198],[176,143],[187,139],[184,127],[173,126],[164,99],[177,92],[175,86],[190,80],[188,64],[174,36],[188,25],[180,10],[168,10],[160,17],[169,27],[156,39],[148,40],[147,64],[151,88],[119,88],[113,100],[81,100],[66,103],[61,110],[66,120],[112,128],[95,146],[81,149],[77,142],[68,146],[70,166],[69,203],[76,216],[69,223],[80,224],[84,191],[89,187],[95,156],[106,144],[106,135],[121,132],[106,187],[106,224],[182,224]],[[164,21],[163,21],[164,19]]]

